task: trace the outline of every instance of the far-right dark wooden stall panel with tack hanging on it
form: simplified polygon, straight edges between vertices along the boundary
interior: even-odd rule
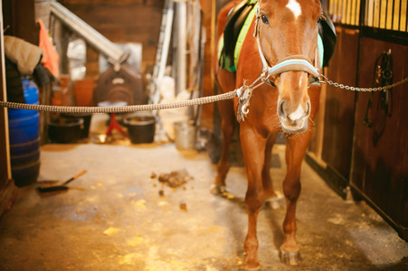
[[[377,57],[391,50],[394,82],[408,77],[408,47],[363,38],[359,66],[359,86],[371,86]],[[368,117],[373,126],[364,125],[369,93],[358,93],[350,185],[365,200],[375,205],[400,236],[408,238],[408,85],[392,89],[389,111],[384,115],[379,97],[373,95]],[[375,131],[384,134],[375,144]]]

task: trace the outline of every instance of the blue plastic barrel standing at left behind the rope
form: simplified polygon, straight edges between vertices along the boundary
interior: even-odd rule
[[[38,88],[23,79],[27,104],[38,105]],[[40,172],[40,113],[33,110],[8,109],[10,156],[14,183],[22,187],[37,181]]]

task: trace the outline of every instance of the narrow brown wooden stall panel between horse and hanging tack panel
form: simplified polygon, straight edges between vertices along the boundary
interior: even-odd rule
[[[356,85],[358,33],[337,28],[337,48],[327,76],[349,86]],[[327,86],[322,159],[346,180],[350,174],[353,145],[355,93]]]

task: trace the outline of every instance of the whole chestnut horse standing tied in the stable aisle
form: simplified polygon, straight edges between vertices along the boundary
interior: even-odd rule
[[[229,11],[239,1],[223,7],[218,15],[219,38]],[[217,65],[216,81],[223,92],[238,89],[244,80],[253,82],[262,71],[294,56],[320,69],[317,53],[318,23],[324,18],[319,0],[260,0],[259,9],[242,43],[242,51],[235,72]],[[254,33],[257,38],[254,38]],[[257,39],[259,41],[257,42]],[[259,43],[259,44],[258,44]],[[262,57],[263,55],[263,57]],[[263,58],[263,60],[262,60]],[[276,133],[287,135],[287,174],[283,193],[287,203],[283,221],[284,241],[280,257],[289,264],[297,264],[299,248],[296,243],[296,202],[300,193],[300,167],[312,135],[313,121],[318,111],[320,85],[310,84],[310,72],[292,69],[269,78],[270,84],[254,89],[249,114],[239,123],[240,138],[248,189],[245,195],[248,212],[248,233],[244,242],[244,269],[258,269],[257,217],[265,200],[277,195],[270,178],[271,149]],[[223,149],[217,167],[213,192],[222,193],[230,168],[228,152],[240,108],[238,98],[219,102],[222,115]]]

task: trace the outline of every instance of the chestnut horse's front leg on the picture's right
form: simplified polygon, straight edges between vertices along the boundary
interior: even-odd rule
[[[299,264],[299,247],[296,243],[296,204],[300,194],[300,168],[308,148],[312,129],[291,135],[286,141],[287,173],[283,181],[287,210],[283,221],[285,238],[280,247],[280,259],[289,265]]]

